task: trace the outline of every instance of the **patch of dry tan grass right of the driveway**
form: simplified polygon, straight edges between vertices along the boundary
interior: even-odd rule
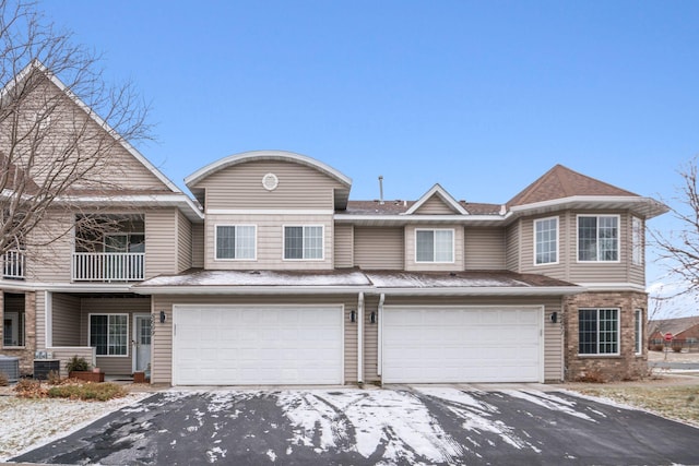
[[[677,386],[584,386],[584,395],[609,398],[699,427],[699,384]]]

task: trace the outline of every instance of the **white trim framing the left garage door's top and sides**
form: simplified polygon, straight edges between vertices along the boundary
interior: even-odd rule
[[[171,328],[171,383],[174,386],[178,383],[178,370],[177,370],[177,325],[178,325],[178,313],[186,312],[187,310],[197,310],[197,309],[332,309],[339,313],[340,319],[340,384],[344,385],[345,383],[345,304],[344,303],[331,303],[331,304],[322,304],[322,303],[312,303],[312,304],[227,304],[227,303],[206,303],[206,304],[173,304],[173,328]]]

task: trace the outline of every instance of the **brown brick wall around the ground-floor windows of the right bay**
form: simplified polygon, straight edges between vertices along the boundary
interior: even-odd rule
[[[576,381],[585,378],[603,381],[636,380],[648,375],[647,338],[648,295],[635,291],[584,292],[564,299],[566,328],[566,380]],[[578,355],[578,310],[585,308],[606,308],[619,310],[619,355]],[[641,310],[643,334],[641,354],[636,355],[635,315]]]

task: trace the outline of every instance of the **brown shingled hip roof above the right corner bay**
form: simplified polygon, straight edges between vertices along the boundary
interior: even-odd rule
[[[595,178],[556,164],[536,181],[512,198],[508,207],[572,196],[638,196]]]

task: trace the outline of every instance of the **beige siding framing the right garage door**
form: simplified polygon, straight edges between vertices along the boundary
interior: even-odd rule
[[[556,297],[525,298],[525,297],[483,297],[483,298],[460,298],[460,297],[441,297],[439,302],[431,297],[391,297],[387,296],[384,306],[508,306],[508,307],[531,307],[541,306],[544,308],[544,380],[548,382],[560,382],[564,377],[562,372],[562,322],[564,315],[560,314],[561,299]],[[549,320],[552,312],[558,312],[558,322],[552,323]],[[382,316],[379,315],[379,319]],[[493,336],[497,338],[497,335]],[[365,348],[371,343],[371,337],[367,335]],[[377,359],[378,361],[378,359]],[[365,362],[367,380],[378,378],[376,373],[369,373],[369,370],[376,371],[376,365],[370,366],[370,361]]]

